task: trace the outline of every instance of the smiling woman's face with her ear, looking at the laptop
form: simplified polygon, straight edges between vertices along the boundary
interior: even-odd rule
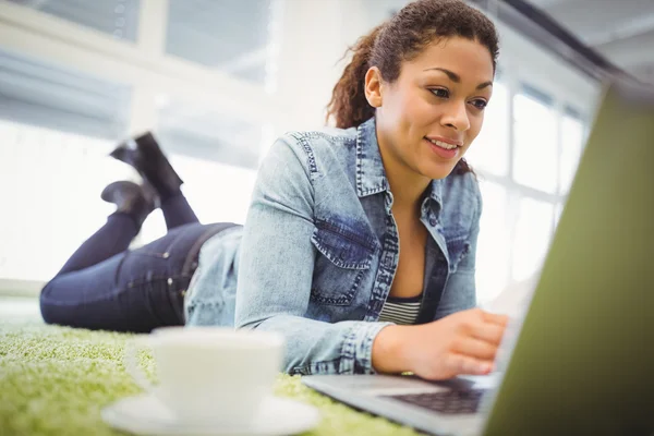
[[[488,49],[461,37],[432,43],[402,62],[397,81],[378,81],[377,94],[374,70],[366,75],[366,95],[377,108],[385,166],[447,177],[482,129],[494,76]]]

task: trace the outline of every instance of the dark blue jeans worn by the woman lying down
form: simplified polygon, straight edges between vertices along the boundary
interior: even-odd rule
[[[43,289],[40,312],[48,324],[147,332],[184,324],[183,294],[196,267],[189,254],[207,231],[183,195],[162,205],[168,232],[130,251],[138,233],[126,214],[113,214]]]

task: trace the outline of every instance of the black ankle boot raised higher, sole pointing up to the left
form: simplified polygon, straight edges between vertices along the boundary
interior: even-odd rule
[[[155,189],[161,202],[181,194],[182,179],[174,171],[152,133],[120,144],[111,157],[134,167]]]

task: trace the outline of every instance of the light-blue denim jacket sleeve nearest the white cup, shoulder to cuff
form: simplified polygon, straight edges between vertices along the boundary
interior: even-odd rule
[[[234,324],[282,334],[287,373],[373,373],[373,340],[388,323],[304,317],[316,258],[314,182],[320,177],[308,141],[301,134],[278,140],[259,168],[241,242]]]

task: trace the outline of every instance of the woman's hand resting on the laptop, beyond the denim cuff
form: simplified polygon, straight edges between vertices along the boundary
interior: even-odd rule
[[[431,379],[493,371],[508,317],[480,308],[419,326],[388,326],[373,342],[373,367]]]

